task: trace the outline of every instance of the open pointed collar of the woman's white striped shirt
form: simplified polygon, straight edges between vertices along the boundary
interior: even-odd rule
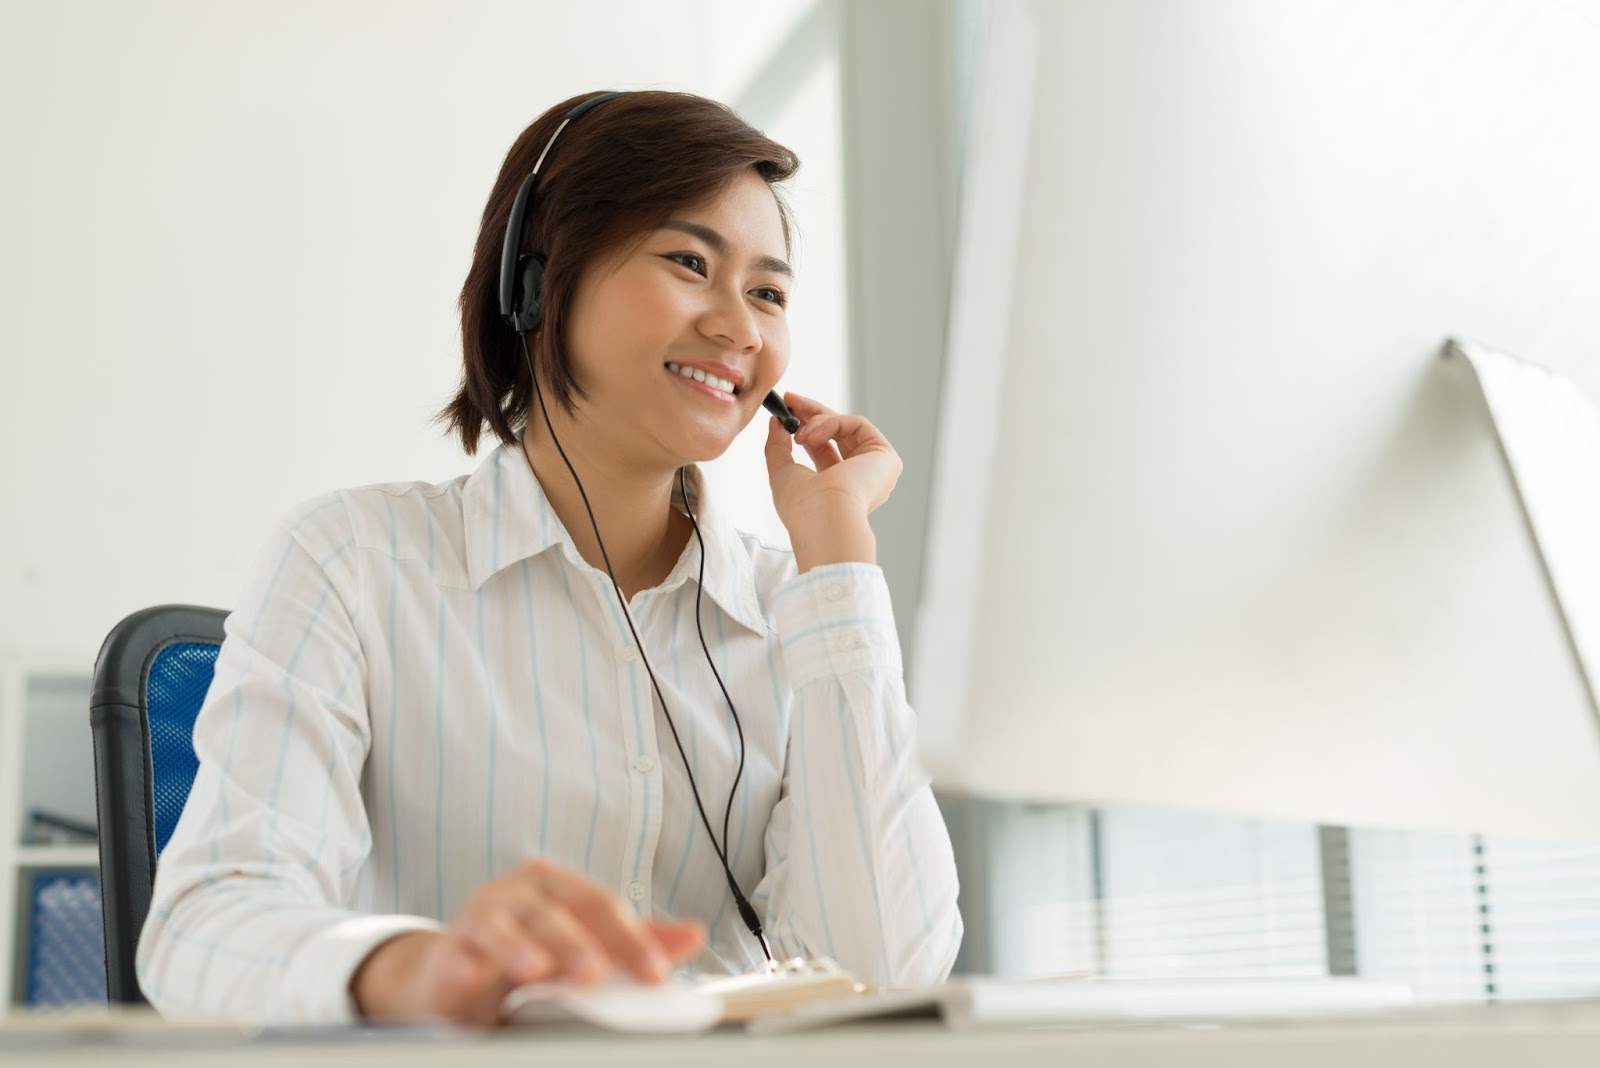
[[[766,619],[755,595],[755,561],[726,510],[709,492],[702,472],[688,468],[690,502],[706,542],[706,593],[730,619],[758,635]],[[672,504],[683,510],[683,496],[674,483]],[[506,568],[560,547],[568,563],[587,568],[571,536],[550,507],[544,488],[533,476],[522,446],[504,443],[467,478],[461,491],[462,532],[467,545],[467,577],[480,588]],[[672,568],[662,590],[672,590],[699,572],[699,545],[690,544]]]

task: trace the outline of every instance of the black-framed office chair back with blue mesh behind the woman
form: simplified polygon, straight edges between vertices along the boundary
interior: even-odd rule
[[[192,604],[147,608],[117,624],[94,660],[90,724],[106,996],[114,1004],[146,1001],[133,958],[150,911],[155,860],[194,785],[194,723],[226,617]]]

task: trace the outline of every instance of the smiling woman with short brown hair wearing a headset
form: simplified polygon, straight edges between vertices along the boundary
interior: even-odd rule
[[[499,446],[278,526],[160,857],[157,1007],[491,1023],[550,978],[949,972],[955,871],[867,526],[894,449],[789,393],[814,464],[770,419],[792,552],[734,531],[694,467],[789,365],[773,187],[795,168],[675,93],[578,98],[512,145],[443,412],[469,454],[485,427]],[[542,315],[512,329],[501,253],[534,169],[514,253],[544,264]]]

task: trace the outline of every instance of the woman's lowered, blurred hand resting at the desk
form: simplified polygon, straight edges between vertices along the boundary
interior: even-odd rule
[[[371,1020],[491,1026],[517,986],[594,985],[613,972],[659,983],[706,945],[694,923],[640,919],[616,895],[542,860],[485,883],[448,931],[413,931],[373,950],[350,980]]]

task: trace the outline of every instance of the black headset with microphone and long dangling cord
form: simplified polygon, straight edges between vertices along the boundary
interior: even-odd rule
[[[710,665],[710,671],[717,678],[717,686],[722,689],[723,700],[728,702],[728,711],[733,713],[733,726],[739,734],[739,767],[733,775],[733,787],[728,790],[728,806],[723,809],[722,815],[722,844],[717,843],[710,817],[706,815],[706,806],[701,801],[699,785],[694,782],[694,771],[690,767],[690,758],[683,751],[683,742],[678,739],[678,727],[672,721],[672,711],[667,708],[667,699],[661,692],[661,684],[656,681],[656,671],[650,667],[650,657],[645,656],[645,643],[640,641],[638,630],[634,627],[634,616],[627,611],[627,598],[622,596],[622,587],[618,584],[616,572],[611,569],[611,556],[606,553],[605,540],[600,537],[600,524],[595,521],[594,508],[589,505],[589,494],[584,491],[584,484],[578,478],[578,470],[573,467],[573,462],[566,459],[566,449],[562,448],[560,440],[555,436],[555,427],[550,424],[550,411],[544,406],[544,393],[539,390],[539,376],[533,366],[533,347],[528,341],[531,334],[538,333],[539,325],[544,321],[544,305],[539,299],[539,286],[544,280],[544,257],[538,253],[520,251],[522,230],[526,222],[528,206],[533,203],[533,192],[539,184],[539,168],[544,166],[546,157],[550,155],[550,149],[555,145],[555,139],[562,136],[563,130],[578,122],[590,109],[619,96],[626,96],[626,93],[602,93],[598,96],[590,96],[587,101],[566,112],[566,117],[562,118],[555,133],[552,133],[550,139],[544,142],[544,150],[539,152],[539,158],[534,161],[533,171],[517,189],[517,198],[510,206],[510,217],[506,221],[506,245],[501,249],[499,310],[507,326],[517,331],[523,342],[523,357],[528,361],[528,376],[533,395],[539,401],[539,412],[544,416],[544,425],[550,430],[550,440],[555,443],[555,451],[562,456],[562,462],[566,464],[566,470],[571,473],[573,483],[578,486],[578,496],[582,497],[584,510],[589,512],[589,524],[594,528],[595,542],[600,545],[600,558],[605,561],[606,576],[611,577],[611,588],[616,592],[616,600],[622,606],[622,619],[627,620],[627,630],[634,635],[634,644],[638,648],[640,660],[645,664],[645,671],[650,675],[650,684],[656,691],[656,700],[661,702],[661,711],[667,718],[667,727],[672,731],[672,740],[678,747],[678,756],[683,759],[683,771],[690,779],[690,791],[694,795],[694,807],[699,811],[701,823],[706,827],[706,836],[710,839],[710,847],[717,852],[717,860],[722,862],[722,871],[728,879],[728,891],[733,894],[734,905],[739,910],[739,918],[744,919],[744,926],[750,929],[752,935],[755,935],[755,942],[762,946],[762,953],[766,954],[768,966],[773,966],[773,950],[766,943],[766,935],[762,934],[762,919],[757,916],[750,900],[744,895],[744,891],[739,889],[739,881],[733,876],[733,867],[728,863],[728,825],[733,815],[733,798],[739,790],[739,779],[744,775],[744,724],[739,723],[739,711],[733,707],[733,697],[728,694],[728,687],[722,681],[722,673],[717,671],[717,665],[710,657],[710,649],[706,646],[706,630],[701,625],[701,593],[706,588],[706,540],[701,537],[699,523],[694,520],[694,508],[690,505],[685,468],[678,468],[678,488],[683,492],[683,507],[688,510],[690,523],[694,526],[694,540],[701,550],[699,580],[694,588],[694,628],[699,632],[701,651],[706,654],[706,664]],[[800,420],[789,411],[776,392],[770,392],[762,401],[762,406],[773,412],[789,433],[795,433],[800,428]],[[533,412],[530,411],[530,416],[531,414]],[[531,459],[528,460],[528,467],[533,470]],[[538,478],[538,475],[534,476]]]

